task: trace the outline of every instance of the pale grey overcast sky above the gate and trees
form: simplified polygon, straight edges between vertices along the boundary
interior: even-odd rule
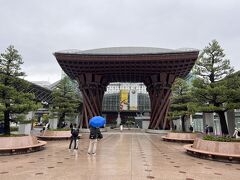
[[[240,70],[239,0],[0,0],[0,52],[14,45],[30,81],[60,79],[59,50],[201,50],[213,39]]]

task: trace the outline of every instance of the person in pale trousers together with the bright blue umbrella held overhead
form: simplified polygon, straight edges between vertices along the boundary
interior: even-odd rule
[[[89,147],[88,147],[88,154],[89,155],[96,155],[97,150],[97,141],[102,139],[103,136],[100,131],[100,127],[104,127],[106,124],[106,119],[101,116],[94,116],[89,121],[90,126],[90,135],[89,135]]]

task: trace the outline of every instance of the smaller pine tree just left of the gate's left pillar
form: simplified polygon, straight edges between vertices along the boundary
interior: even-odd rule
[[[66,117],[74,118],[80,111],[80,96],[77,87],[68,76],[65,76],[58,83],[57,87],[52,92],[53,108],[51,111],[58,115],[58,127]]]

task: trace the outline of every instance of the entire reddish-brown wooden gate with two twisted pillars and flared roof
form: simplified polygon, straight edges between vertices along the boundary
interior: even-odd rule
[[[163,129],[170,105],[171,85],[192,69],[196,49],[149,47],[111,47],[92,50],[66,50],[54,55],[72,79],[79,83],[83,96],[85,123],[101,115],[102,100],[110,82],[143,82],[151,102],[150,129]]]

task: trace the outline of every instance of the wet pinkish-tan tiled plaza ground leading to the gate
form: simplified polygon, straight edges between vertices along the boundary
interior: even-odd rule
[[[0,180],[240,179],[240,164],[191,157],[183,144],[163,142],[159,135],[105,133],[93,157],[87,155],[86,134],[78,151],[69,151],[68,143],[48,142],[40,152],[0,156]]]

